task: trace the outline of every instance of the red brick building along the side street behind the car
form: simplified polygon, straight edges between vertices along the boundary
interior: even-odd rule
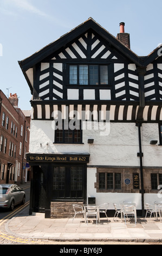
[[[22,184],[29,177],[30,113],[25,114],[18,108],[16,94],[7,98],[0,90],[0,184]]]

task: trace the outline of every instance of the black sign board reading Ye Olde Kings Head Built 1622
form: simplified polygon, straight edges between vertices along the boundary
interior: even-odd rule
[[[80,162],[88,163],[89,154],[27,154],[28,162]]]

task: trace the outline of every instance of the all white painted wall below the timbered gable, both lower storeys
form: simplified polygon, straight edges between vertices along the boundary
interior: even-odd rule
[[[96,124],[95,124],[96,125]],[[54,144],[53,121],[31,120],[30,153],[89,153],[88,166],[133,166],[139,167],[138,127],[134,123],[110,123],[101,136],[103,130],[83,130],[83,144]],[[104,133],[103,133],[104,134]],[[94,143],[88,144],[88,138]],[[144,166],[162,166],[161,150],[158,145],[150,145],[152,139],[159,140],[158,124],[142,124],[141,127],[142,151]],[[48,145],[47,145],[48,144]],[[120,204],[124,200],[137,203],[141,209],[140,193],[96,193],[96,168],[87,168],[87,199],[95,197],[96,204],[109,203],[109,209],[114,209],[113,203]],[[148,196],[149,195],[149,196]],[[145,194],[145,202],[157,200],[157,194]],[[162,199],[161,199],[162,200]]]

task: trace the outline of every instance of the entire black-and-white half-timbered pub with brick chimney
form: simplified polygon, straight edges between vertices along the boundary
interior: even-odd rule
[[[31,212],[72,216],[73,202],[160,196],[162,58],[130,49],[92,18],[19,62],[31,90]]]

